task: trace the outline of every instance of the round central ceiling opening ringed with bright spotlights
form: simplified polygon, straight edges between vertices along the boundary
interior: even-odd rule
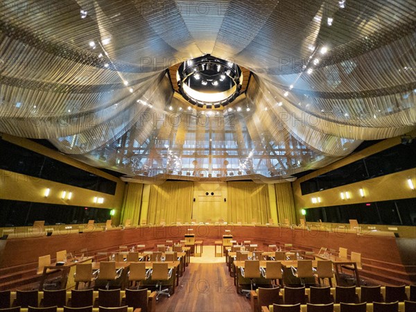
[[[200,108],[219,108],[239,96],[243,73],[233,62],[203,55],[180,64],[177,85],[189,103]]]

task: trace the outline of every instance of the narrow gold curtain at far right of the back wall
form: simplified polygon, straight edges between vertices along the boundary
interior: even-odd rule
[[[290,224],[296,223],[295,202],[293,201],[292,184],[275,184],[276,204],[277,204],[277,223],[284,223],[285,219]]]

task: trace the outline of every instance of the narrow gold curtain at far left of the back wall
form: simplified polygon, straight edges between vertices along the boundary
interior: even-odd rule
[[[125,220],[130,219],[131,225],[139,223],[141,194],[143,193],[143,184],[128,183],[124,190],[123,209],[121,213],[121,223],[125,224]]]

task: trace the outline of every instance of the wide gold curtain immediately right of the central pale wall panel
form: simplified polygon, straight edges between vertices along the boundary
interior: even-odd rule
[[[227,182],[228,222],[266,224],[270,218],[270,203],[266,184]]]

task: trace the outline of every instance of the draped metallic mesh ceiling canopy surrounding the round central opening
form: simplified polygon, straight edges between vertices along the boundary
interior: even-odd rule
[[[153,182],[276,182],[416,128],[415,29],[404,0],[1,1],[0,132]],[[224,110],[168,78],[205,54],[252,71]]]

